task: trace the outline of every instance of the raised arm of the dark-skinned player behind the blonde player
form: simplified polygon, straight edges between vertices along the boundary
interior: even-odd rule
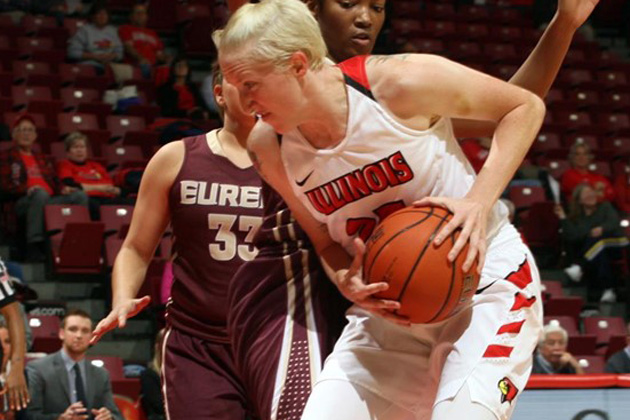
[[[540,37],[538,44],[510,79],[544,98],[553,84],[575,32],[586,22],[599,0],[560,0],[553,19]],[[453,120],[455,136],[490,137],[496,124],[487,121]]]

